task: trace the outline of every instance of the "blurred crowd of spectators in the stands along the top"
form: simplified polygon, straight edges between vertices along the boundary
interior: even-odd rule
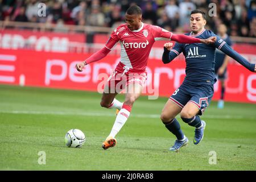
[[[38,16],[39,3],[45,3],[46,16]],[[0,20],[45,23],[53,31],[68,31],[65,25],[116,27],[124,22],[130,5],[143,10],[143,22],[169,31],[189,32],[192,10],[209,12],[216,4],[216,16],[208,19],[207,27],[217,32],[221,23],[231,36],[256,38],[256,1],[250,0],[0,0]],[[53,26],[52,26],[53,25]]]

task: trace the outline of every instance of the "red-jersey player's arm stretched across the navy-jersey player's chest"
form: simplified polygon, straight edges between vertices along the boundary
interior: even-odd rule
[[[184,43],[184,44],[192,44],[192,43],[204,43],[204,44],[213,44],[216,42],[216,36],[211,36],[208,39],[199,39],[194,38],[192,36],[183,35],[183,34],[172,34],[171,40],[175,42]]]

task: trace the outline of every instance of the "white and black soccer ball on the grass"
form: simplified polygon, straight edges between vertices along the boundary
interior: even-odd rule
[[[85,135],[79,129],[71,129],[65,135],[65,144],[68,147],[82,147],[85,143]]]

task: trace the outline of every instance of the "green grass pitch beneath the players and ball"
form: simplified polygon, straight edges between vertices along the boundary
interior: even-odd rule
[[[123,101],[123,95],[117,97]],[[181,121],[189,144],[170,152],[175,137],[159,115],[168,98],[143,96],[117,135],[103,150],[115,110],[100,107],[101,94],[0,85],[1,170],[256,170],[256,104],[211,102],[202,117],[204,139],[193,144],[194,129]],[[86,135],[82,148],[64,144],[69,129]],[[39,164],[40,151],[46,164]],[[212,151],[216,152],[216,164]]]

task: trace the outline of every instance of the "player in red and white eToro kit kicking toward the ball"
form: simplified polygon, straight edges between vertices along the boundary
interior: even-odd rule
[[[143,23],[142,10],[136,5],[129,7],[126,11],[125,20],[125,24],[115,28],[104,48],[94,53],[82,63],[76,64],[77,71],[81,72],[86,64],[98,61],[108,55],[116,43],[119,42],[121,44],[121,61],[109,77],[101,99],[102,107],[119,110],[112,131],[105,142],[102,143],[102,147],[105,150],[109,147],[114,147],[117,143],[115,135],[117,135],[129,118],[131,107],[133,107],[135,100],[141,95],[147,78],[146,66],[148,56],[156,40],[168,39],[187,44],[210,44],[216,41],[214,36],[208,39],[198,39],[182,34],[173,34],[158,26]],[[116,100],[115,96],[125,88],[127,92],[125,94],[125,102],[122,103]]]

